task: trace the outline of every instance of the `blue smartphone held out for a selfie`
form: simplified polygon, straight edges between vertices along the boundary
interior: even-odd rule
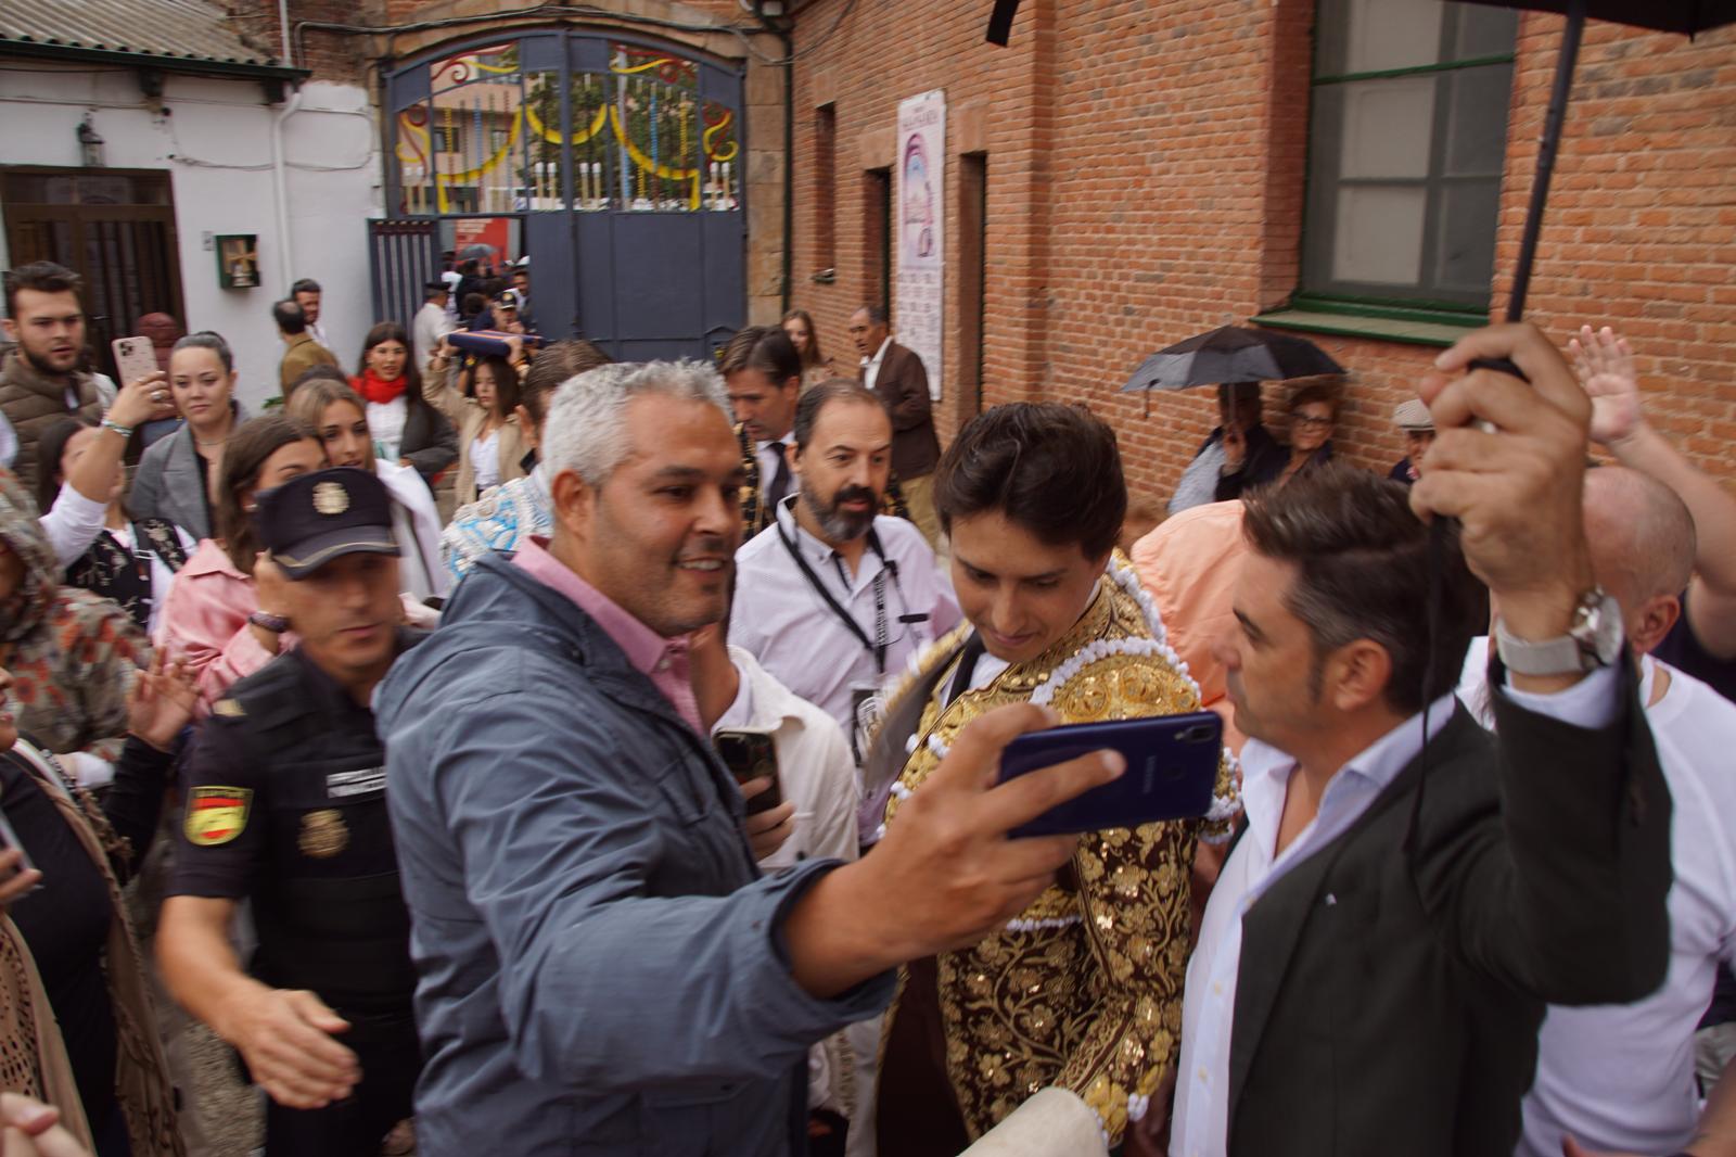
[[[1106,747],[1127,759],[1120,778],[1050,808],[1010,834],[1071,836],[1200,818],[1212,810],[1224,721],[1210,711],[1028,731],[1000,754],[1000,782]]]

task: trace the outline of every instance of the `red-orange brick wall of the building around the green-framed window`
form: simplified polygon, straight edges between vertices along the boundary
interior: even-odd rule
[[[1123,440],[1137,495],[1163,500],[1213,424],[1210,391],[1116,394],[1139,360],[1245,321],[1295,287],[1311,45],[1307,0],[1149,5],[1026,0],[1012,45],[986,5],[816,0],[797,23],[795,304],[840,365],[845,318],[877,292],[866,169],[891,163],[898,102],[948,97],[948,278],[958,276],[957,156],[988,153],[984,400],[1083,400]],[[1521,23],[1498,235],[1510,278],[1561,19]],[[814,109],[837,115],[835,205],[812,203]],[[1639,353],[1649,410],[1706,469],[1736,448],[1736,30],[1587,36],[1531,290],[1559,340],[1609,320]],[[814,238],[835,214],[837,283]],[[957,285],[948,285],[948,301]],[[951,318],[950,318],[951,323]],[[1436,349],[1318,335],[1351,368],[1335,445],[1385,469],[1391,412]],[[950,339],[946,374],[958,380]],[[1269,415],[1283,387],[1267,387]],[[957,429],[943,408],[943,436]]]

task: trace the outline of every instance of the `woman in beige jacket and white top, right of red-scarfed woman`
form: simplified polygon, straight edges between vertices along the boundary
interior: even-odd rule
[[[476,502],[509,478],[524,478],[529,446],[519,429],[519,374],[500,356],[474,358],[453,386],[453,349],[443,339],[422,379],[422,396],[458,427],[458,506]]]

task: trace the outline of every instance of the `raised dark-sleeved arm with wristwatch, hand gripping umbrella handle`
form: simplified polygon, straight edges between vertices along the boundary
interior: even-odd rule
[[[1529,384],[1474,358],[1510,358]],[[1594,577],[1581,511],[1590,401],[1529,325],[1477,330],[1424,384],[1439,436],[1411,488],[1424,518],[1458,518],[1465,561],[1519,639],[1564,636]],[[1474,422],[1488,422],[1483,429]],[[1554,1004],[1635,1001],[1670,959],[1670,792],[1634,662],[1509,678],[1495,695],[1500,827],[1436,823],[1420,888],[1462,957]],[[1448,815],[1455,783],[1430,783]],[[1432,867],[1430,867],[1432,865]]]

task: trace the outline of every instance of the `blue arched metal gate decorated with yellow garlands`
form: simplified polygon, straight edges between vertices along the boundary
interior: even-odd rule
[[[484,276],[529,257],[545,337],[691,358],[743,325],[738,68],[656,40],[531,31],[404,66],[387,99],[398,222],[436,222],[441,261],[476,257]]]

